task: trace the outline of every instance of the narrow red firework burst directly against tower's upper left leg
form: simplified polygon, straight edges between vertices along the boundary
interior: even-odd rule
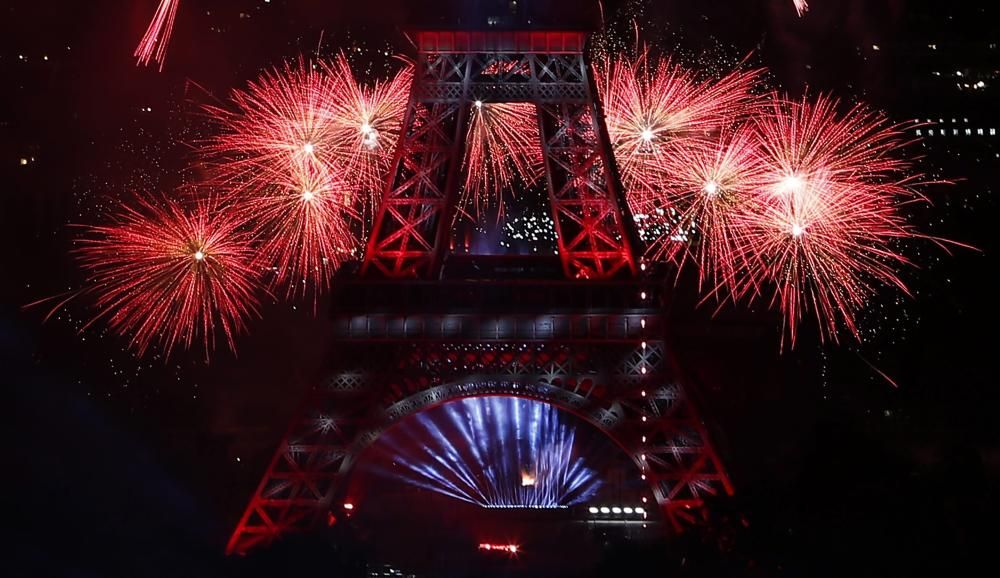
[[[400,136],[413,67],[407,64],[388,81],[371,86],[358,82],[344,54],[325,63],[324,71],[337,87],[330,102],[334,124],[330,142],[348,184],[371,210],[382,193]]]

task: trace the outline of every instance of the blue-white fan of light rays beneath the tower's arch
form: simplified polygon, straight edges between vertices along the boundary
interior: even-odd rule
[[[486,508],[572,505],[601,483],[573,457],[575,433],[559,410],[531,400],[463,399],[383,437],[404,471],[379,473]]]

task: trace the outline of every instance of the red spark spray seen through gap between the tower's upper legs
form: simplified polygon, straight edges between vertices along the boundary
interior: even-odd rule
[[[535,106],[475,101],[463,170],[462,204],[477,216],[493,206],[502,212],[503,193],[513,190],[516,179],[529,187],[538,182],[544,168]]]

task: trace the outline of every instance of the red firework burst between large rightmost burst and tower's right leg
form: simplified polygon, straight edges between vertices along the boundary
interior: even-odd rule
[[[756,134],[747,128],[724,130],[710,146],[679,148],[664,167],[662,195],[648,195],[640,209],[655,214],[676,208],[675,228],[650,243],[653,259],[691,261],[699,288],[715,293],[737,276],[736,248],[744,233],[742,217],[765,175]],[[679,242],[677,230],[693,231],[693,242]]]

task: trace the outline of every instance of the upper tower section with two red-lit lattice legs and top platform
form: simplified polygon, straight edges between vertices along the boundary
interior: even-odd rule
[[[448,246],[471,107],[530,103],[568,278],[636,273],[582,32],[418,32],[403,133],[368,243],[363,274],[435,278]]]

